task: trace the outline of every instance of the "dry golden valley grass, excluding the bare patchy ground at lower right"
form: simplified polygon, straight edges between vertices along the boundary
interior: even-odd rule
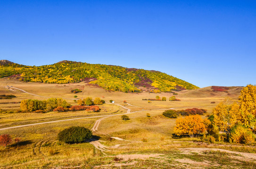
[[[22,83],[12,79],[8,80],[7,78],[3,78],[0,79],[0,93],[17,96],[17,98],[12,100],[0,100],[0,108],[8,110],[17,110],[19,108],[19,103],[3,103],[20,102],[23,99],[44,100],[45,98],[33,96],[19,90],[10,91],[4,88],[6,85],[14,86],[27,92],[46,97],[64,99],[73,99],[74,95],[77,95],[78,98],[81,99],[86,97],[100,97],[106,102],[114,100],[115,103],[130,108],[131,112],[140,111],[128,114],[130,117],[130,120],[128,121],[123,121],[121,115],[110,116],[101,121],[98,131],[108,133],[113,137],[126,139],[115,140],[106,135],[97,132],[94,133],[94,135],[101,137],[99,139],[101,140],[101,143],[107,146],[107,149],[110,150],[105,152],[109,155],[164,153],[177,154],[180,157],[181,154],[179,154],[177,148],[182,147],[223,148],[242,152],[256,152],[255,146],[233,145],[227,143],[206,144],[202,143],[199,138],[174,139],[172,138],[172,133],[176,119],[170,119],[163,116],[162,113],[164,110],[157,110],[169,108],[204,108],[207,109],[207,113],[203,115],[203,118],[206,118],[206,115],[210,115],[216,104],[224,100],[226,96],[230,96],[233,100],[237,100],[241,88],[231,89],[229,93],[213,92],[210,87],[193,91],[181,91],[177,92],[178,95],[175,95],[176,98],[181,99],[181,101],[152,101],[151,103],[148,103],[148,101],[142,99],[156,98],[156,96],[159,95],[160,97],[165,96],[166,99],[169,100],[169,97],[173,96],[173,94],[110,92],[99,87],[87,85],[83,82],[78,84],[41,84]],[[70,90],[75,88],[81,89],[83,92],[75,94],[71,93]],[[124,100],[132,106],[124,104]],[[211,104],[212,101],[215,101],[216,103]],[[68,100],[68,102],[72,105],[76,105],[73,100]],[[50,112],[45,114],[0,114],[0,128],[27,123],[76,118],[86,115],[104,115],[114,112],[116,112],[116,114],[121,114],[122,112],[126,112],[126,109],[113,104],[103,104],[100,105],[100,108],[101,111],[95,113],[79,111],[63,113]],[[104,109],[107,109],[107,112],[102,111]],[[147,113],[150,114],[150,117],[147,117]],[[84,126],[91,129],[98,119],[99,118],[79,119],[0,131],[0,134],[8,133],[13,138],[22,138],[22,142],[19,146],[13,143],[8,146],[7,149],[4,149],[3,147],[0,148],[0,167],[34,169],[54,168],[57,166],[60,168],[76,166],[80,168],[91,168],[91,166],[96,165],[112,164],[113,156],[103,157],[103,154],[95,149],[90,143],[65,145],[57,140],[59,131],[70,126]],[[205,156],[207,156],[207,154]],[[140,168],[141,166],[139,164],[148,167],[151,165],[150,162],[145,164],[143,161],[139,161],[135,168]],[[156,162],[156,165],[161,168],[161,162]],[[245,168],[250,165],[251,163],[244,164]]]

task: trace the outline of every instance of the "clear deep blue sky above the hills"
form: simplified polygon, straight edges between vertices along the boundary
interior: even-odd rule
[[[0,0],[0,59],[159,70],[256,84],[256,0]]]

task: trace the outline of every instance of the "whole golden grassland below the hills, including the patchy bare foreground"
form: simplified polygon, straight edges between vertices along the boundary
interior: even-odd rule
[[[126,109],[114,104],[100,105],[105,111],[87,113],[79,112],[50,112],[45,114],[14,113],[0,114],[0,128],[17,126],[29,123],[40,123],[69,119],[76,117],[114,115],[100,122],[98,131],[94,132],[94,138],[99,139],[105,146],[101,152],[89,142],[67,145],[57,140],[59,131],[70,126],[84,126],[91,129],[97,118],[78,119],[59,123],[47,123],[24,128],[15,128],[0,131],[0,134],[8,133],[13,138],[21,138],[19,144],[13,143],[6,149],[0,147],[0,168],[34,169],[34,168],[100,168],[100,169],[254,169],[256,166],[255,145],[239,145],[224,142],[209,144],[202,142],[200,138],[172,138],[175,119],[167,118],[162,114],[168,108],[204,108],[207,113],[217,103],[229,96],[233,100],[238,99],[241,88],[232,89],[229,92],[213,92],[210,87],[193,91],[177,92],[177,98],[181,101],[148,101],[142,99],[165,96],[168,100],[172,93],[124,93],[110,92],[86,83],[77,84],[42,84],[22,83],[6,78],[0,79],[0,93],[14,94],[17,98],[12,100],[0,100],[0,108],[17,110],[23,99],[45,98],[29,95],[15,90],[8,90],[4,86],[14,86],[27,92],[45,97],[78,98],[100,97],[108,102],[115,103],[131,109],[130,120],[121,120],[121,115]],[[81,89],[80,93],[71,93],[72,89]],[[126,100],[130,105],[123,103]],[[67,100],[75,105],[73,100]],[[215,104],[211,104],[211,102]],[[8,103],[17,102],[17,103]],[[146,114],[149,113],[150,117]],[[122,138],[114,139],[111,137]],[[106,155],[104,155],[104,154]]]

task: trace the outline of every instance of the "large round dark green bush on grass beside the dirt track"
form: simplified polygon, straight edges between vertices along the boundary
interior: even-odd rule
[[[92,137],[92,132],[85,127],[70,127],[58,133],[58,140],[68,144],[82,143]]]

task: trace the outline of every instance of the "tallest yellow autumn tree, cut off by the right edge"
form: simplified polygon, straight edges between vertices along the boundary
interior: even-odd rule
[[[248,84],[239,96],[241,123],[256,131],[256,85]]]

